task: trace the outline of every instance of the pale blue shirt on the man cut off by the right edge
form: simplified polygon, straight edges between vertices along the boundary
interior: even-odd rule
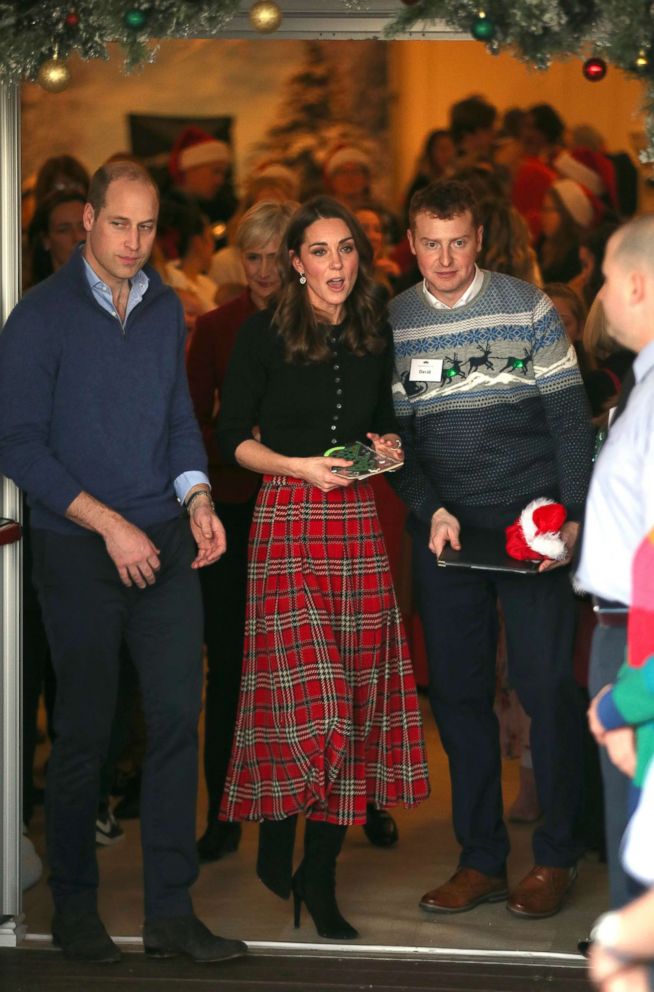
[[[631,565],[654,527],[654,341],[636,356],[636,385],[595,465],[577,580],[603,599],[631,604]]]

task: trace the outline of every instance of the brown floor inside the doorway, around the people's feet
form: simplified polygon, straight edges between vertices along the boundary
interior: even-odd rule
[[[427,889],[444,881],[456,865],[457,848],[449,822],[449,781],[433,722],[425,707],[433,793],[416,810],[395,811],[400,842],[391,850],[372,847],[361,828],[347,836],[338,869],[338,895],[345,916],[359,929],[354,942],[390,948],[448,948],[495,953],[529,952],[576,955],[576,943],[588,933],[605,908],[605,868],[588,860],[580,865],[573,894],[557,916],[540,921],[521,920],[503,903],[479,906],[455,916],[434,916],[417,905]],[[517,762],[505,763],[507,806],[517,790]],[[198,823],[204,823],[206,799],[199,797]],[[137,936],[142,923],[139,823],[123,824],[125,840],[101,849],[100,911],[115,936]],[[43,849],[42,819],[31,831],[37,849]],[[510,879],[517,881],[531,867],[531,828],[512,826]],[[244,825],[243,840],[235,854],[202,868],[194,888],[196,911],[208,925],[225,936],[248,941],[316,942],[313,925],[303,917],[293,928],[291,905],[284,903],[257,880],[254,873],[257,826]],[[51,904],[47,886],[39,883],[25,894],[24,910],[30,934],[49,932]],[[581,963],[581,962],[580,962]]]

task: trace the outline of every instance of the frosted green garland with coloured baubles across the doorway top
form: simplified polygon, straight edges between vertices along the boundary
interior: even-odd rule
[[[343,17],[366,0],[343,0]],[[234,16],[239,0],[0,0],[0,81],[39,79],[63,89],[66,58],[107,59],[117,42],[126,68],[152,61],[161,38],[211,37]],[[586,78],[601,79],[604,60],[647,83],[645,110],[654,160],[654,12],[644,0],[398,0],[386,36],[440,21],[469,32],[489,51],[508,49],[544,69],[556,58],[592,56]],[[274,30],[281,11],[259,0],[250,11],[258,31]]]

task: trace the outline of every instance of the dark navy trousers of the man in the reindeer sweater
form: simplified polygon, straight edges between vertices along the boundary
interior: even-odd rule
[[[531,749],[544,811],[535,863],[567,868],[582,852],[583,713],[572,674],[575,605],[568,569],[511,575],[440,568],[423,533],[414,539],[415,585],[429,662],[429,698],[448,756],[460,864],[506,870],[499,727],[493,710],[497,600],[508,671],[531,717]]]

